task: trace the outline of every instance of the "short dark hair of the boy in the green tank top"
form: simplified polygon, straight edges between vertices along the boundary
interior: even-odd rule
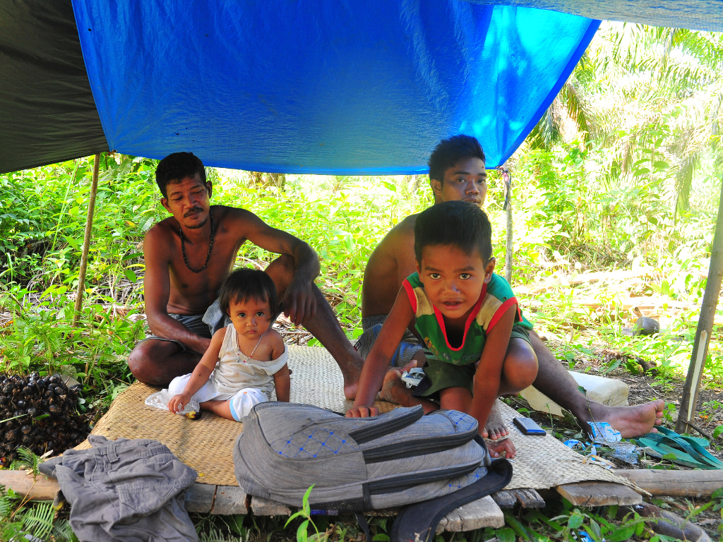
[[[470,202],[444,202],[419,213],[414,223],[414,255],[422,263],[425,246],[452,245],[466,254],[479,250],[485,264],[492,257],[492,225]]]

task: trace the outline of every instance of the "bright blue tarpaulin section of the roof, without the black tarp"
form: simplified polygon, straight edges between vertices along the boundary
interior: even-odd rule
[[[459,132],[504,163],[599,25],[461,0],[72,5],[111,150],[278,173],[424,173]]]

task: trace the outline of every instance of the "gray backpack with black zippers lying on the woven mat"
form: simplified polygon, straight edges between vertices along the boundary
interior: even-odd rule
[[[456,410],[424,416],[416,406],[374,418],[343,418],[310,405],[260,403],[243,421],[244,431],[234,446],[241,488],[249,495],[301,507],[313,485],[309,504],[316,513],[362,512],[438,499],[484,481],[491,463],[477,436],[476,419]],[[474,491],[469,489],[465,502],[508,483],[509,463],[495,463],[497,474],[488,477],[487,486],[477,483]],[[464,504],[445,502],[450,509]]]

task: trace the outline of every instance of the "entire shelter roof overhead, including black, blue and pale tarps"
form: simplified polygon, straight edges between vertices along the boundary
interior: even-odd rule
[[[723,0],[0,2],[0,172],[192,150],[258,171],[421,173],[456,132],[492,167],[599,19],[723,30]]]

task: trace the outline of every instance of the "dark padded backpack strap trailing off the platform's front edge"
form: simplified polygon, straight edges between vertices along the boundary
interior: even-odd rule
[[[438,499],[410,504],[397,515],[390,532],[390,542],[432,542],[437,525],[449,512],[468,502],[500,491],[512,478],[512,465],[506,459],[492,461],[487,476]],[[419,538],[417,538],[419,537]],[[368,539],[367,539],[368,541]]]

